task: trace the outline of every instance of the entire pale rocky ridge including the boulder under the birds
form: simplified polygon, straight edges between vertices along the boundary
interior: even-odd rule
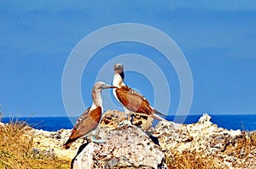
[[[32,136],[34,155],[73,160],[73,168],[79,169],[186,168],[175,163],[192,157],[193,162],[205,159],[202,163],[205,168],[207,163],[211,163],[210,168],[256,168],[256,133],[218,127],[207,114],[188,125],[160,121],[151,127],[153,120],[139,115],[134,125],[127,122],[119,125],[121,121],[125,121],[125,113],[108,111],[98,130],[106,143],[87,143],[79,138],[70,149],[63,149],[62,144],[71,130],[32,129],[27,134]]]

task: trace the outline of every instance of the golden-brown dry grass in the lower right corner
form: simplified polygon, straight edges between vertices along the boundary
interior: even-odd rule
[[[235,168],[255,168],[256,166],[256,132],[243,132],[232,140],[224,152],[205,155],[203,151],[185,150],[178,153],[177,148],[166,153],[166,165],[170,169],[221,169],[230,168],[224,165],[224,157],[228,156],[230,166]]]

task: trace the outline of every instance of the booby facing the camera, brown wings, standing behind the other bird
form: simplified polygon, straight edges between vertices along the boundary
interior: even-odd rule
[[[159,116],[163,114],[150,106],[148,100],[145,99],[143,95],[125,85],[124,66],[122,64],[114,65],[113,70],[113,86],[116,87],[113,88],[113,95],[119,101],[119,103],[124,106],[127,120],[129,114],[150,116],[160,121],[165,120]]]

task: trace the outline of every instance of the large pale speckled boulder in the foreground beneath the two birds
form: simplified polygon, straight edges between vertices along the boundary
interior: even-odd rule
[[[157,168],[165,157],[158,145],[135,126],[125,124],[108,128],[101,136],[105,136],[106,143],[87,145],[75,158],[73,168]],[[83,165],[79,167],[79,164]]]

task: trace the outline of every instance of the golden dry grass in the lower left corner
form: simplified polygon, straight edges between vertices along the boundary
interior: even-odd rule
[[[50,159],[44,155],[35,157],[32,154],[32,137],[26,135],[26,130],[30,129],[26,122],[18,121],[0,127],[0,168],[65,169],[70,167],[70,161]]]

